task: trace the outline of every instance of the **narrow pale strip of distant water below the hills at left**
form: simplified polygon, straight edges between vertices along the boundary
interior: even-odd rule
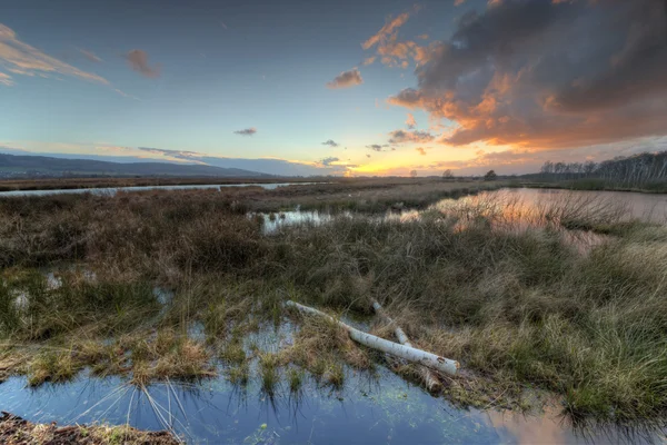
[[[308,186],[321,182],[250,182],[250,184],[201,184],[201,185],[181,185],[181,186],[138,186],[138,187],[106,187],[106,188],[72,188],[53,190],[11,190],[0,191],[1,197],[10,196],[48,196],[63,194],[93,194],[93,195],[115,195],[117,191],[143,191],[143,190],[200,190],[200,189],[221,189],[227,187],[261,187],[267,190],[273,190],[285,186]]]

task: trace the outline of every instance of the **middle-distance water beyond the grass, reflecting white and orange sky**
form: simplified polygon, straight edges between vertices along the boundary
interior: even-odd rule
[[[567,240],[574,245],[591,246],[601,243],[605,237],[588,230],[590,227],[586,224],[603,225],[630,219],[665,224],[667,195],[509,188],[482,191],[460,199],[442,199],[422,211],[388,211],[379,218],[408,222],[426,214],[456,219],[455,230],[462,230],[471,222],[479,224],[481,219],[489,228],[515,231],[528,227],[561,229],[565,225],[570,229],[563,233]],[[261,216],[262,230],[267,235],[293,225],[319,226],[334,218],[328,212],[300,210]],[[346,211],[337,216],[352,217],[354,214]]]

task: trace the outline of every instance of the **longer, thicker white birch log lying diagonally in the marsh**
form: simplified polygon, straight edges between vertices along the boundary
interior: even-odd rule
[[[317,315],[319,317],[327,318],[331,323],[335,323],[339,327],[347,330],[352,340],[369,348],[377,349],[382,353],[390,354],[392,356],[406,359],[408,362],[417,363],[419,365],[424,365],[428,368],[436,369],[446,374],[454,375],[456,374],[459,367],[459,363],[456,360],[439,357],[435,354],[427,353],[426,350],[417,349],[411,346],[399,345],[398,343],[389,342],[378,336],[364,333],[349,325],[346,325],[340,320],[337,320],[328,314],[313,309],[312,307],[303,306],[292,300],[286,301],[285,305],[287,307],[296,308],[305,314]]]

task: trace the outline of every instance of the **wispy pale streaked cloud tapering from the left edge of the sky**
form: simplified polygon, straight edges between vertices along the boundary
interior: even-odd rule
[[[21,76],[53,77],[53,75],[69,76],[90,82],[109,85],[109,81],[92,72],[82,71],[69,63],[46,55],[37,48],[19,40],[17,33],[9,27],[0,23],[0,67],[7,71]],[[2,76],[3,85],[9,85],[9,75]]]

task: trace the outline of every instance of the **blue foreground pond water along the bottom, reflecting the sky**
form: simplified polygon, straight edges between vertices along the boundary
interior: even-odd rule
[[[376,375],[347,369],[338,390],[307,380],[272,396],[257,379],[245,387],[225,378],[163,383],[143,389],[119,377],[81,375],[67,384],[27,388],[12,377],[0,385],[3,411],[59,425],[107,422],[172,429],[187,443],[230,444],[531,444],[650,443],[658,436],[625,431],[580,432],[552,407],[541,416],[458,409],[380,367]]]

